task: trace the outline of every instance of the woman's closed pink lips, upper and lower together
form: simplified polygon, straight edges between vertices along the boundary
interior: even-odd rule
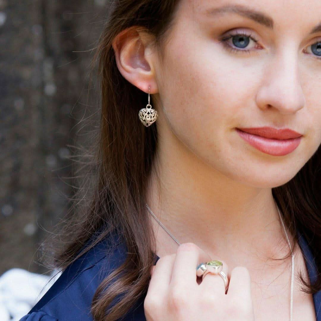
[[[266,154],[281,156],[294,151],[300,144],[302,134],[289,128],[273,127],[235,128],[250,145]]]

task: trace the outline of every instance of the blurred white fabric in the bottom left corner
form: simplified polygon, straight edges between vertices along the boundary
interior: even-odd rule
[[[60,274],[48,282],[50,276],[20,268],[4,272],[0,276],[0,320],[19,321],[48,291]]]

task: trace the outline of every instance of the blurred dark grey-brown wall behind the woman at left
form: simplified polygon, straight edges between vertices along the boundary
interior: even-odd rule
[[[66,156],[87,100],[104,0],[0,0],[0,275],[36,250],[72,195]],[[79,138],[81,139],[81,137]]]

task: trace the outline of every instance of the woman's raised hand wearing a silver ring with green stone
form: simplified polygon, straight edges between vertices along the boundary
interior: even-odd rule
[[[216,259],[216,257],[213,257]],[[235,267],[230,277],[223,262],[229,288],[220,275],[207,273],[203,281],[196,266],[209,256],[194,243],[181,244],[176,254],[160,257],[144,300],[147,321],[238,320],[253,321],[251,278],[246,267]]]

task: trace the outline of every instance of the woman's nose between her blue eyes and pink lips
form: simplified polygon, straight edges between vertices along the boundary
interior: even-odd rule
[[[256,104],[262,110],[277,109],[281,114],[293,114],[305,105],[299,79],[298,55],[290,45],[283,44],[279,53],[266,66]]]

